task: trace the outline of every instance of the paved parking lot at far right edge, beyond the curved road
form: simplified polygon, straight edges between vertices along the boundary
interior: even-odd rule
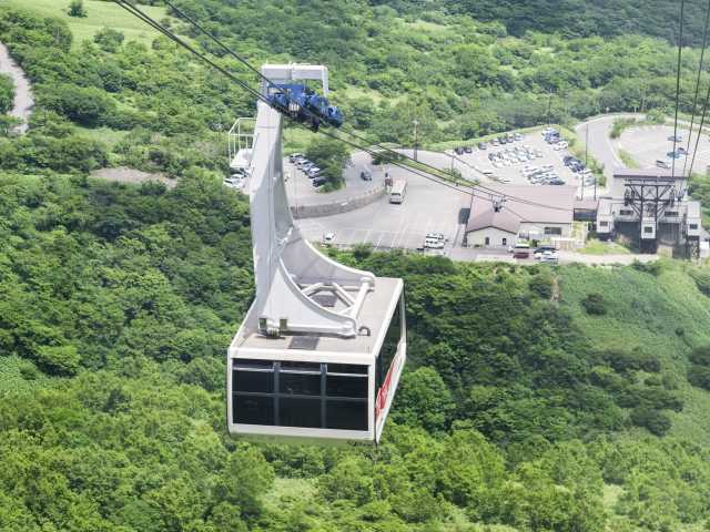
[[[676,147],[688,147],[688,130],[679,127],[678,135],[681,141],[677,143]],[[671,125],[629,127],[621,134],[621,137],[617,142],[617,147],[630,154],[639,167],[649,168],[656,166],[656,161],[659,160],[668,163],[671,162],[668,154],[673,151],[672,136],[673,127]],[[688,155],[676,160],[677,172],[682,172],[686,157],[688,158],[688,166],[690,166],[690,158],[692,158],[696,140],[697,133],[693,133],[690,140]],[[703,134],[698,145],[698,155],[696,156],[693,172],[704,172],[708,165],[710,165],[710,142],[708,135]]]

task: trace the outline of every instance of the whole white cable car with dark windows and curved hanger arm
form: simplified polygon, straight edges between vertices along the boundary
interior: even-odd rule
[[[327,69],[265,65],[291,84]],[[262,86],[267,93],[271,84]],[[284,187],[282,110],[258,102],[247,156],[256,295],[227,354],[227,429],[275,440],[377,442],[406,360],[404,283],[320,253]]]

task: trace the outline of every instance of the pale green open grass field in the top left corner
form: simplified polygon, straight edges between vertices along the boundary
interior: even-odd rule
[[[69,17],[67,13],[69,0],[0,0],[0,10],[3,8],[26,9],[42,17],[54,17],[65,21],[74,35],[74,45],[83,40],[91,40],[102,28],[112,28],[121,31],[126,41],[140,41],[150,44],[158,37],[158,32],[133,17],[118,4],[106,1],[84,0],[87,17]],[[150,17],[162,19],[165,9],[162,7],[141,6]]]

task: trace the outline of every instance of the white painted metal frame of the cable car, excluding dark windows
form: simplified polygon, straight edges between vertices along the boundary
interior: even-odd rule
[[[264,75],[275,82],[301,79],[320,80],[327,94],[327,69],[316,65],[264,65]],[[266,85],[262,88],[266,91]],[[237,121],[230,131],[234,144],[231,162],[240,158],[232,146],[248,152],[250,208],[254,255],[255,299],[234,337],[227,355],[227,428],[231,433],[282,438],[315,438],[333,440],[378,440],[406,359],[406,323],[404,317],[404,284],[398,279],[372,350],[357,352],[344,348],[337,351],[294,350],[248,347],[252,335],[270,332],[312,334],[342,338],[344,342],[358,334],[358,316],[376,278],[369,272],[351,268],[321,254],[294,224],[286,198],[282,154],[282,115],[264,102],[257,104],[253,133],[242,135],[245,122]],[[251,135],[251,136],[248,136]],[[245,144],[242,146],[241,142]],[[239,150],[241,147],[241,150]],[[327,290],[336,294],[345,309],[332,310],[318,305],[312,296]],[[389,390],[379,417],[375,419],[376,362],[383,347],[389,320],[396,305],[400,308],[402,336],[390,369]],[[267,325],[266,329],[260,324]],[[281,330],[286,324],[285,331]],[[344,344],[347,346],[347,344]],[[240,358],[285,361],[356,364],[368,366],[368,430],[313,429],[233,423],[233,362]]]

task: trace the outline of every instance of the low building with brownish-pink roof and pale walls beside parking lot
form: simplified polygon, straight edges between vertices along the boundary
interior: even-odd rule
[[[519,238],[570,238],[575,214],[574,186],[491,185],[476,191],[470,203],[464,245],[507,248]],[[497,194],[496,194],[497,193]]]

